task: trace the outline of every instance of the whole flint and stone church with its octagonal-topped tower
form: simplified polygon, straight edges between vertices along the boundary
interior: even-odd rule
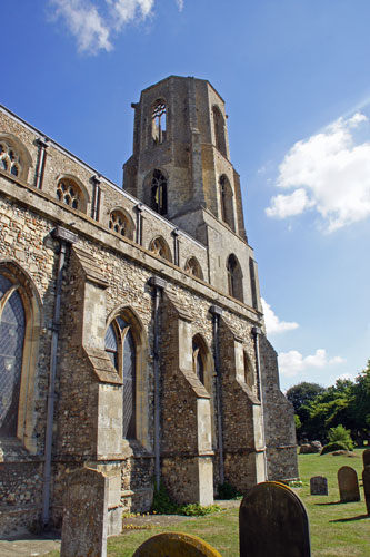
[[[298,477],[224,101],[141,92],[122,187],[0,107],[0,534],[108,478],[109,534],[156,486],[210,505]]]

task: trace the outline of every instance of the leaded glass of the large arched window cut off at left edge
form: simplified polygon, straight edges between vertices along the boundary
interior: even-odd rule
[[[0,274],[0,437],[17,437],[26,314],[18,286]]]

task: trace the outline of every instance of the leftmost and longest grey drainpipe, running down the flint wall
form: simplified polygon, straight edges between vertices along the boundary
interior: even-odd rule
[[[52,424],[54,413],[54,398],[56,398],[56,373],[57,373],[57,352],[60,328],[60,302],[61,289],[63,282],[63,267],[66,263],[67,247],[74,244],[78,240],[77,235],[72,232],[57,226],[51,232],[54,240],[59,241],[59,261],[58,274],[56,285],[56,302],[52,319],[52,338],[50,351],[50,370],[49,370],[49,390],[48,390],[48,411],[47,411],[47,427],[44,440],[44,465],[43,465],[43,491],[42,491],[42,525],[47,527],[49,524],[50,514],[50,481],[51,481],[51,450],[52,450]]]

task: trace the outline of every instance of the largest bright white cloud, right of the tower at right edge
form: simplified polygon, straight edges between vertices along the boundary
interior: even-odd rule
[[[296,143],[279,167],[277,183],[294,190],[272,197],[267,215],[286,218],[314,208],[327,232],[368,218],[370,141],[356,144],[361,125],[369,128],[369,119],[356,113]]]

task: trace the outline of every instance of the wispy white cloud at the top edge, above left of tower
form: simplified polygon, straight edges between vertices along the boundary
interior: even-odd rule
[[[51,20],[62,19],[77,40],[79,52],[96,55],[113,49],[112,36],[124,26],[143,21],[156,0],[49,0]],[[176,0],[179,11],[183,0]]]

